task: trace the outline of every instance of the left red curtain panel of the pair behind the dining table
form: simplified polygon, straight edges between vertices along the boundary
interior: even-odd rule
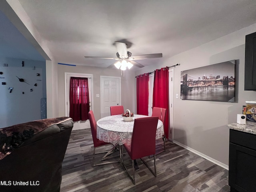
[[[136,77],[137,114],[148,116],[148,73]]]

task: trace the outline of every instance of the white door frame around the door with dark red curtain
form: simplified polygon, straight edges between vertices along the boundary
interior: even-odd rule
[[[68,114],[68,90],[67,90],[67,80],[68,80],[68,75],[74,75],[74,76],[78,76],[78,77],[87,77],[87,78],[91,78],[92,80],[92,84],[91,84],[91,94],[92,97],[90,98],[90,102],[91,102],[91,106],[92,106],[92,110],[93,110],[93,74],[86,74],[86,73],[70,73],[70,72],[65,72],[65,116],[69,117]]]

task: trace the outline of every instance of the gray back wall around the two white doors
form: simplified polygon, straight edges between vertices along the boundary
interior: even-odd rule
[[[100,94],[100,76],[121,77],[121,104],[124,106],[124,110],[135,111],[134,84],[136,79],[134,71],[126,70],[124,76],[121,76],[121,70],[117,69],[58,65],[59,116],[65,116],[65,72],[93,74],[93,110],[96,121],[100,119],[100,97],[96,97],[96,94]]]

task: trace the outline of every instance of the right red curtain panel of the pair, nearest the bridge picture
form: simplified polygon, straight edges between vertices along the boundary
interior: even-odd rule
[[[168,139],[169,128],[169,70],[168,67],[157,69],[154,72],[153,107],[166,108],[164,133]]]

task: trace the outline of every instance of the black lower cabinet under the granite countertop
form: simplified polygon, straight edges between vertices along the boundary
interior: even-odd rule
[[[230,192],[256,192],[256,135],[230,129]]]

